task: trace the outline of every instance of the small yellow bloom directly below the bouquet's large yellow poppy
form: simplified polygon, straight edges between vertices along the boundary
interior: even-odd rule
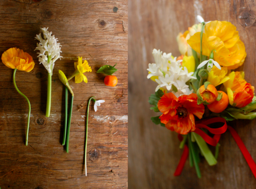
[[[211,71],[208,73],[208,79],[207,81],[211,83],[213,86],[218,86],[226,82],[229,77],[226,76],[227,74],[227,68],[222,67],[220,70],[216,66],[212,67]]]

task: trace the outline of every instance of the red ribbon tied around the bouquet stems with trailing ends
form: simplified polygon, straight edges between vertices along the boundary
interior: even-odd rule
[[[210,128],[207,126],[208,124],[217,123],[217,122],[223,123],[223,126],[219,128]],[[209,132],[211,132],[212,134],[215,134],[215,136],[213,138],[209,137],[200,128],[206,128]],[[245,147],[244,143],[242,142],[236,130],[228,126],[224,118],[217,117],[217,118],[211,118],[208,120],[199,121],[196,124],[196,130],[194,132],[199,134],[205,140],[205,142],[208,143],[209,145],[216,146],[220,140],[221,134],[226,132],[227,129],[230,131],[232,137],[234,138],[234,141],[236,141],[236,143],[238,144],[238,147],[240,148],[242,154],[245,157],[245,160],[247,161],[247,164],[249,165],[254,177],[256,178],[256,164],[254,160],[252,159],[250,153],[248,152],[247,148]],[[179,136],[179,140],[180,139],[181,139],[181,136]],[[181,174],[183,167],[185,165],[186,159],[188,157],[188,152],[189,152],[188,147],[185,145],[184,151],[182,153],[180,162],[174,173],[174,176],[179,176]]]

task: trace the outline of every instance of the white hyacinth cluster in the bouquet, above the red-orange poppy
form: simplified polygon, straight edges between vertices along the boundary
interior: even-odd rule
[[[162,53],[162,51],[157,49],[154,49],[152,53],[155,63],[148,64],[147,71],[150,73],[147,75],[147,78],[152,76],[158,77],[155,79],[158,83],[156,91],[163,88],[171,91],[177,97],[191,94],[193,90],[189,90],[186,82],[191,78],[196,79],[196,77],[192,76],[194,72],[188,73],[186,67],[183,70],[180,64],[182,60],[176,61],[176,57],[173,58],[172,53]]]

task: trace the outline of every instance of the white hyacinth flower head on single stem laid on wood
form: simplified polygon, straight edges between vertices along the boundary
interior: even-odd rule
[[[41,28],[42,34],[44,35],[44,39],[41,37],[41,33],[36,35],[35,39],[40,41],[37,43],[37,47],[35,50],[39,50],[37,52],[39,55],[39,62],[42,63],[47,69],[48,73],[52,74],[52,70],[54,67],[54,63],[60,56],[60,43],[58,43],[57,38],[52,36],[52,32],[47,31],[48,28]],[[48,60],[49,59],[49,60]]]

